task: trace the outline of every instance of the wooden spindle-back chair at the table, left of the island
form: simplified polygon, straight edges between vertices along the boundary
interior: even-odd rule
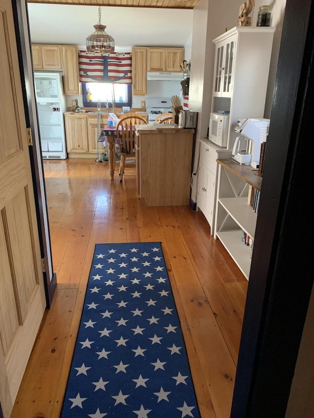
[[[122,183],[123,180],[126,160],[131,158],[132,162],[128,163],[128,167],[135,167],[134,126],[142,124],[147,125],[147,122],[144,118],[136,114],[132,114],[129,116],[125,116],[124,118],[121,118],[117,124],[117,138],[119,154],[121,157],[119,168],[120,183]]]

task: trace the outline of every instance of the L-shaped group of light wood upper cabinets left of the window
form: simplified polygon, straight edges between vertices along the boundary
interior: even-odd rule
[[[31,46],[34,70],[62,70],[65,95],[80,95],[76,45]]]

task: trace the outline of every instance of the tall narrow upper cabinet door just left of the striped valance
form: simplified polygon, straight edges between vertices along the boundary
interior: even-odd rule
[[[64,94],[80,95],[78,49],[76,46],[62,46],[61,48]]]

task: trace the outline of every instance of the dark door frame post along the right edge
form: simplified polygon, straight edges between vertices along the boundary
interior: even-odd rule
[[[313,3],[286,4],[232,418],[285,417],[313,288]]]

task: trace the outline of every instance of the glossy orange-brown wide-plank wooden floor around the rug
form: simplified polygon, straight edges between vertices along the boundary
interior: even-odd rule
[[[58,285],[11,418],[59,417],[94,246],[142,241],[161,242],[202,418],[228,418],[247,280],[204,215],[146,207],[131,168],[122,184],[95,160],[44,161],[44,172]]]

